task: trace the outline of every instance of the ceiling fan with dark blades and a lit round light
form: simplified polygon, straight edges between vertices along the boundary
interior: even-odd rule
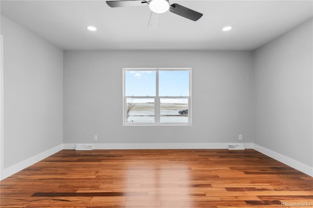
[[[170,10],[170,12],[192,21],[199,20],[203,15],[178,3],[170,4],[169,0],[107,0],[106,2],[110,7],[149,5],[150,9],[155,13],[160,14]]]

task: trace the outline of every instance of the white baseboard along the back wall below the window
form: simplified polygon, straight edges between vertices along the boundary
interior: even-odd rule
[[[226,149],[229,143],[101,143],[92,144],[93,149]],[[234,143],[232,143],[234,144]],[[252,143],[244,144],[252,149]],[[75,149],[76,144],[64,144],[64,149]]]

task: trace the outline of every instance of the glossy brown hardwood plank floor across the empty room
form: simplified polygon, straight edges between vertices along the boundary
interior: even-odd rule
[[[62,150],[0,194],[1,208],[301,207],[313,178],[252,149]]]

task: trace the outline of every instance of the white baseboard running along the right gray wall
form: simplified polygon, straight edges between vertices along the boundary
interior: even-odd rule
[[[306,164],[303,164],[303,163],[300,163],[296,160],[293,160],[289,157],[286,157],[285,155],[282,155],[282,154],[279,154],[277,152],[274,152],[270,149],[267,149],[263,146],[259,146],[259,145],[256,145],[256,144],[253,144],[253,149],[261,152],[262,154],[265,154],[267,155],[268,157],[271,157],[283,164],[286,164],[287,166],[291,166],[293,167],[294,169],[297,169],[311,177],[313,177],[313,167],[311,166],[308,166]]]

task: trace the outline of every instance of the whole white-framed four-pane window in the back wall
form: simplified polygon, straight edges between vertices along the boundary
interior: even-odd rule
[[[191,125],[190,68],[124,68],[124,125]]]

